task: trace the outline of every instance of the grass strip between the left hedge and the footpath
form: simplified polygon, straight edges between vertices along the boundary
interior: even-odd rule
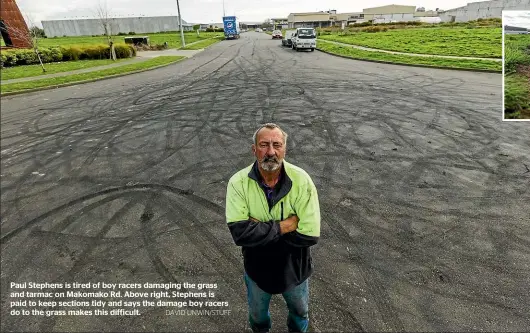
[[[116,62],[121,62],[130,59],[118,59]],[[80,60],[80,61],[65,61],[52,62],[44,64],[46,72],[42,72],[40,65],[25,65],[2,68],[2,80],[20,79],[24,77],[39,76],[46,74],[54,74],[61,72],[74,71],[78,69],[90,68],[95,66],[110,65],[116,63],[109,59],[104,60]]]

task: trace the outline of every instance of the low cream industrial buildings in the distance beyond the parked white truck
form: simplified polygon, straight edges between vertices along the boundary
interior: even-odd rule
[[[288,16],[289,28],[299,27],[346,27],[354,23],[373,21],[374,23],[389,23],[403,21],[429,21],[424,18],[438,17],[437,11],[425,11],[415,6],[388,5],[363,9],[362,12],[337,13],[336,10],[291,13]],[[430,20],[434,22],[433,20]]]

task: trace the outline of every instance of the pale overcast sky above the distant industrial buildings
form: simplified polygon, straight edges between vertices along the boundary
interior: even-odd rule
[[[102,0],[104,1],[104,0]],[[106,0],[113,15],[177,15],[176,0]],[[287,17],[292,12],[336,9],[362,12],[363,8],[400,4],[425,7],[426,10],[452,9],[477,0],[224,0],[227,15],[240,21]],[[41,20],[94,17],[99,0],[17,0],[23,14],[29,14],[40,26]],[[188,23],[221,22],[223,0],[179,0],[182,18]]]

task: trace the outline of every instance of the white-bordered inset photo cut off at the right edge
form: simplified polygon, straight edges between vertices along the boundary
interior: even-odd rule
[[[530,11],[502,12],[503,120],[530,121]]]

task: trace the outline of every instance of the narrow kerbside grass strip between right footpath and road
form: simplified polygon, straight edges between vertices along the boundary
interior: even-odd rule
[[[390,54],[377,51],[364,51],[353,47],[341,46],[332,43],[326,43],[319,40],[317,49],[347,56],[358,60],[375,60],[395,64],[423,65],[433,67],[446,67],[455,69],[482,69],[502,72],[502,63],[490,60],[462,60],[462,59],[444,59],[437,57],[417,57],[401,54]]]

